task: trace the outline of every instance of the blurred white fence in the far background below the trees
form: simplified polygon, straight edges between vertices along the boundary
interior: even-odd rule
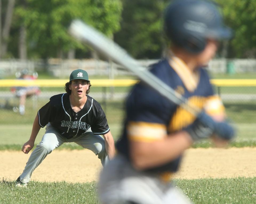
[[[142,66],[149,66],[158,60],[138,60]],[[112,63],[96,59],[84,60],[61,60],[49,59],[47,61],[19,61],[6,60],[0,61],[0,79],[7,75],[14,75],[17,71],[28,69],[31,72],[47,70],[55,77],[68,77],[74,69],[84,69],[91,75],[108,75],[113,78],[115,75],[127,74],[123,67]],[[233,73],[256,72],[256,59],[214,59],[207,68],[214,73]]]

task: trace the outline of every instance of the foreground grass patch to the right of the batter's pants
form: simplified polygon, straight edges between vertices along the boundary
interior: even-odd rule
[[[176,180],[195,204],[256,203],[256,178]]]

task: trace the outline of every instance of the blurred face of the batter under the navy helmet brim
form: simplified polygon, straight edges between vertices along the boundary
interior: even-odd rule
[[[218,50],[218,41],[208,40],[203,52],[197,55],[198,66],[206,66]]]

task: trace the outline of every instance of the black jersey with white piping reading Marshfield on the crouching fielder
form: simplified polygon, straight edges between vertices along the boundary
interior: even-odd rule
[[[52,96],[37,114],[42,128],[50,122],[67,139],[82,135],[89,128],[97,135],[109,132],[101,105],[89,95],[83,109],[77,113],[71,108],[69,94],[65,93]]]

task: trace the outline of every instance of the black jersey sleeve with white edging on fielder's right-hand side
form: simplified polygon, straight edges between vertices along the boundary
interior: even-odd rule
[[[91,131],[93,132],[93,134],[97,135],[104,135],[109,132],[107,118],[101,107],[97,112],[97,116],[93,125],[91,126]]]

